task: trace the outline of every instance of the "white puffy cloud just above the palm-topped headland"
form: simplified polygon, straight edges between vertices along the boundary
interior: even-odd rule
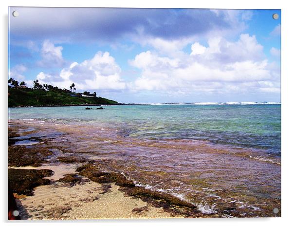
[[[109,52],[98,52],[92,59],[73,62],[58,75],[43,72],[37,75],[41,84],[48,83],[67,88],[74,83],[77,90],[124,90],[126,83],[120,77],[121,69]]]

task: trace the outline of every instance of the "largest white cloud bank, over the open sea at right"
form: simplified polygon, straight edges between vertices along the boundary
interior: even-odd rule
[[[263,47],[255,36],[248,34],[241,34],[235,42],[211,38],[208,47],[195,42],[190,55],[160,57],[151,51],[142,52],[129,64],[142,70],[131,84],[135,91],[173,94],[279,91],[277,70],[270,69],[274,66],[264,58]]]

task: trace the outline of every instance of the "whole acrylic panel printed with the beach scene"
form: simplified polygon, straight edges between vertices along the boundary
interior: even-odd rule
[[[8,219],[281,216],[281,10],[8,18]]]

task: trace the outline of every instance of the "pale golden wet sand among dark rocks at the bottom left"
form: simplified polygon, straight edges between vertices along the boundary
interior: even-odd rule
[[[51,180],[74,173],[76,164],[24,169],[52,169]],[[22,168],[18,168],[22,169]],[[155,208],[139,198],[131,198],[110,184],[107,192],[102,184],[89,181],[75,184],[55,182],[35,188],[33,196],[18,196],[20,218],[39,219],[117,219],[117,218],[182,218]]]

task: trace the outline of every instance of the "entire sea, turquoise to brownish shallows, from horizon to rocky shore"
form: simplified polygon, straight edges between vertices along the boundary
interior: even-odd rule
[[[54,130],[54,142],[102,170],[203,213],[275,216],[280,209],[280,105],[84,108],[11,108],[10,121],[35,127],[34,136]]]

